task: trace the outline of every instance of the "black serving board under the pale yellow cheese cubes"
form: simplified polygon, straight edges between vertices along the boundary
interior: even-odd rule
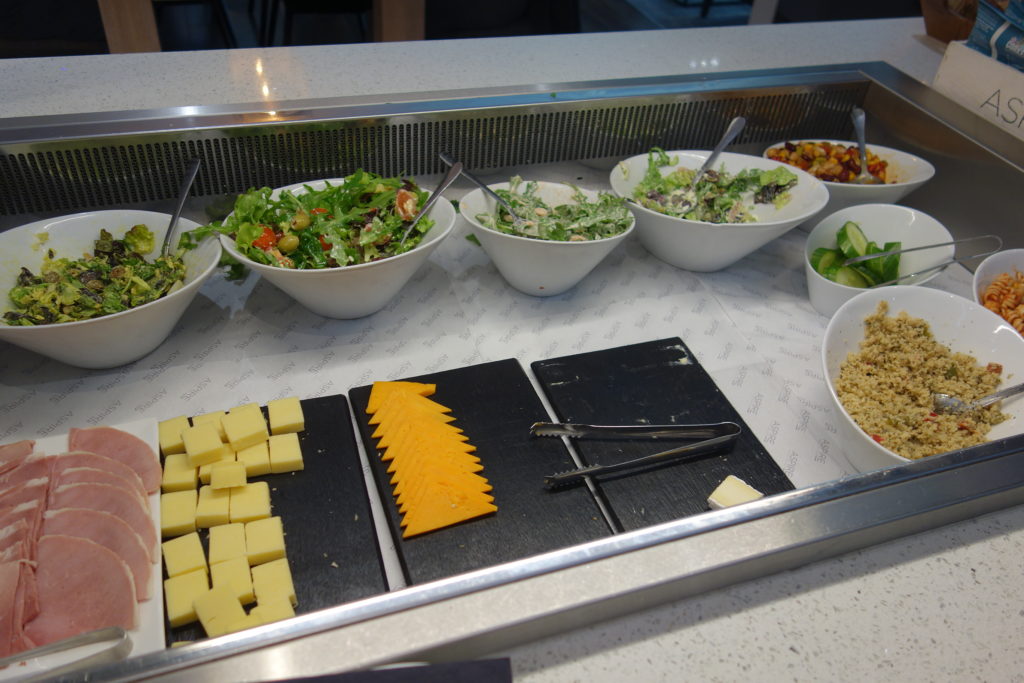
[[[296,614],[333,607],[387,591],[384,565],[355,435],[343,395],[300,401],[304,469],[251,481],[270,485],[271,513],[285,527]],[[266,408],[263,409],[266,417]],[[207,532],[200,531],[207,547]],[[167,644],[205,637],[203,627],[164,625]]]

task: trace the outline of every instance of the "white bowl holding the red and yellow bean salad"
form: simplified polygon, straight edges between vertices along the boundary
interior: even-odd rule
[[[856,142],[848,140],[782,140],[770,145],[764,152],[767,159],[768,150],[778,147],[786,142],[831,142],[834,144],[845,144],[847,146],[856,145]],[[889,173],[896,182],[887,182],[878,185],[859,185],[852,182],[822,181],[828,189],[828,204],[822,210],[822,214],[827,216],[830,213],[845,209],[856,204],[895,204],[912,193],[918,187],[931,180],[935,175],[935,167],[930,163],[915,157],[914,155],[884,147],[881,144],[867,144],[868,151],[879,156],[883,161],[889,162]]]

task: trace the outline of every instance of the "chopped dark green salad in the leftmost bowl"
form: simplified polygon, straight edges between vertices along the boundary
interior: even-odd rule
[[[38,275],[22,266],[7,295],[13,309],[3,319],[14,326],[72,323],[156,301],[184,281],[185,265],[175,255],[146,261],[143,254],[154,247],[150,228],[135,225],[120,240],[101,229],[91,256],[56,258],[47,249]]]

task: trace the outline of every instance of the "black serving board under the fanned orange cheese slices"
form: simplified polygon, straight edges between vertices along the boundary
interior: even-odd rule
[[[494,566],[610,535],[586,488],[553,494],[544,477],[573,467],[558,439],[538,439],[529,426],[548,420],[529,378],[515,359],[497,360],[431,375],[402,378],[437,385],[433,400],[452,409],[477,446],[481,474],[494,486],[498,512],[455,526],[402,539],[401,517],[380,460],[366,408],[371,386],[349,391],[371,470],[384,503],[406,579],[410,584]]]

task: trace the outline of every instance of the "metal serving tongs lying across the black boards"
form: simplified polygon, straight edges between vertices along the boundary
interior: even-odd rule
[[[732,445],[742,431],[735,422],[718,422],[697,425],[582,425],[565,422],[535,422],[530,428],[534,436],[567,436],[569,438],[696,438],[688,443],[642,458],[635,458],[613,465],[591,465],[544,477],[546,488],[558,488],[580,483],[586,476],[622,472],[664,462],[699,456]]]

